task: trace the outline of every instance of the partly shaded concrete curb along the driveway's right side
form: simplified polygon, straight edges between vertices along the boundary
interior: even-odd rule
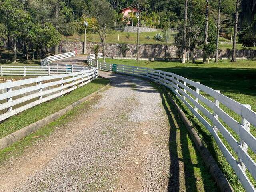
[[[202,143],[200,137],[198,136],[196,130],[192,126],[190,120],[188,120],[188,118],[186,117],[186,115],[182,111],[182,109],[180,109],[180,107],[174,102],[174,100],[172,99],[172,96],[170,96],[170,94],[166,91],[166,88],[165,87],[163,87],[163,88],[164,88],[164,92],[168,96],[168,99],[170,100],[170,102],[174,105],[175,109],[177,110],[178,115],[180,116],[182,122],[185,124],[186,128],[188,129],[192,140],[196,144],[196,148],[200,152],[200,155],[201,155],[202,159],[204,160],[204,163],[205,163],[207,169],[209,170],[212,178],[216,182],[220,191],[221,192],[234,192],[232,186],[229,184],[228,180],[225,178],[224,174],[218,167],[216,161],[214,160],[214,158],[212,157],[212,155],[210,154],[210,152],[208,151],[206,146],[204,146],[204,144]]]

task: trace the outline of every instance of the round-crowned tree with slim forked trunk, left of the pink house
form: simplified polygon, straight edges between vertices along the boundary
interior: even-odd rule
[[[103,60],[105,59],[105,40],[108,28],[113,26],[114,10],[106,0],[92,0],[90,4],[90,15],[96,18],[97,31],[102,43]]]

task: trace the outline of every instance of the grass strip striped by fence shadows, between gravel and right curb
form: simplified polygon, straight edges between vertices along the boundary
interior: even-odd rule
[[[171,166],[168,188],[171,191],[176,187],[176,183],[180,182],[180,191],[218,191],[174,106],[172,106],[163,91],[160,88],[158,90],[170,123],[169,150]],[[179,162],[183,164],[179,164]],[[179,180],[180,173],[183,171],[179,170],[178,167],[184,169],[184,180]],[[183,177],[183,175],[180,177]]]

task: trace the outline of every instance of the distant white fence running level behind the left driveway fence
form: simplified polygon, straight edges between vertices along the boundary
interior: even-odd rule
[[[15,75],[15,76],[49,76],[56,74],[73,73],[81,70],[87,70],[85,66],[73,65],[48,65],[48,66],[14,66],[14,65],[1,65],[0,74]]]

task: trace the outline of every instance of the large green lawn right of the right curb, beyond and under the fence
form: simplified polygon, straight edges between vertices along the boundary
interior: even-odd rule
[[[154,68],[158,70],[163,70],[167,72],[174,72],[175,74],[186,77],[190,80],[194,80],[196,82],[200,82],[210,88],[215,90],[220,90],[222,94],[242,103],[249,104],[252,106],[252,110],[256,111],[256,61],[251,60],[239,60],[238,62],[230,62],[228,60],[220,60],[218,64],[214,62],[210,62],[210,64],[182,64],[180,62],[150,62],[150,61],[140,61],[136,63],[136,60],[117,60],[117,59],[107,59],[108,63],[115,64],[126,64],[131,66],[140,66],[140,67],[148,67]],[[201,92],[204,96],[213,100],[207,94]],[[197,120],[194,115],[173,95],[173,98],[180,104],[183,110],[186,112],[188,118],[193,123],[196,128],[200,138],[207,146],[207,148],[212,153],[214,159],[218,162],[218,165],[224,172],[226,178],[232,184],[232,187],[236,192],[244,191],[242,186],[238,183],[236,178],[236,174],[233,172],[232,168],[229,166],[228,162],[222,155],[221,151],[218,149],[214,138],[208,132],[208,130]],[[202,104],[202,102],[200,102]],[[206,105],[202,104],[204,107]],[[240,121],[240,117],[226,108],[224,105],[220,105],[220,107],[225,110],[230,116],[235,118],[238,122]],[[206,107],[210,112],[208,107]],[[201,113],[202,115],[202,113]],[[222,122],[223,123],[223,122]],[[224,123],[223,123],[224,124]],[[226,124],[224,126],[227,127]],[[236,140],[239,140],[238,135],[234,133],[230,128],[228,130],[232,133]],[[256,136],[256,128],[251,126],[250,132]],[[224,137],[219,134],[222,138],[224,144],[228,147],[228,149],[232,152],[235,158],[238,158],[231,147],[228,145]],[[252,150],[248,150],[250,156],[256,161],[256,155],[252,152]],[[253,177],[247,172],[248,177],[256,186],[256,182]]]

